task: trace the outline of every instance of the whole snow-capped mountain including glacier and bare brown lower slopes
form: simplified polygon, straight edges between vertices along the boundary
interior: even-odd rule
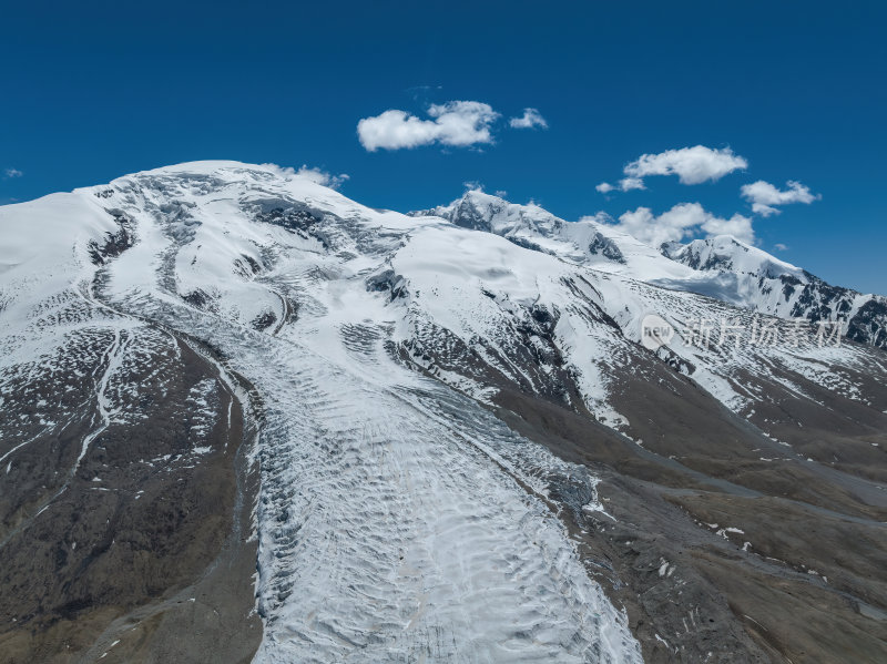
[[[11,662],[887,653],[887,355],[743,300],[721,238],[235,162],[0,231]]]

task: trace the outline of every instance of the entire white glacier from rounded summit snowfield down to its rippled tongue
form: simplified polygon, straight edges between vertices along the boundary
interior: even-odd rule
[[[547,500],[557,481],[594,501],[594,479],[384,348],[391,304],[366,278],[417,222],[271,167],[179,168],[113,183],[139,243],[103,296],[220,349],[262,396],[256,661],[641,661]],[[244,216],[296,200],[293,233]],[[325,214],[347,237],[318,232]],[[268,268],[223,269],[247,256]]]

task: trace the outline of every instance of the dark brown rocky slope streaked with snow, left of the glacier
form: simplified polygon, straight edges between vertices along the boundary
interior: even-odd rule
[[[95,266],[135,239],[109,215]],[[241,402],[198,343],[104,304],[106,273],[84,268],[58,292],[4,288],[0,660],[164,662],[177,639],[175,658],[248,658]]]

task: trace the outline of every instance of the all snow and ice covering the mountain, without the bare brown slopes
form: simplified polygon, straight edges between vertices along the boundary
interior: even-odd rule
[[[865,382],[887,385],[880,351],[823,347],[807,329],[793,346],[693,343],[687,320],[763,319],[692,292],[717,282],[700,269],[708,254],[686,265],[605,225],[479,193],[407,216],[277,166],[196,162],[0,208],[0,386],[38,366],[64,374],[65,344],[85,338],[98,416],[84,453],[132,410],[109,386],[140,398],[141,370],[122,367],[144,364],[141,348],[192,348],[247,409],[257,662],[640,661],[590,572],[602,563],[579,543],[612,519],[597,471],[504,425],[526,399],[654,457],[680,427],[696,446],[686,467],[667,462],[681,472],[703,463],[711,435],[686,427],[684,406],[651,415],[651,403],[707,413],[751,461],[771,441],[797,462],[828,458],[798,433],[824,399],[840,421],[813,431],[869,436],[887,411]],[[639,343],[653,313],[677,328],[655,353]],[[215,403],[210,391],[190,408]],[[49,410],[40,417],[67,412]],[[2,427],[0,454],[14,461],[28,439],[18,421]],[[847,463],[879,453],[847,446]],[[689,656],[710,647],[686,639]]]

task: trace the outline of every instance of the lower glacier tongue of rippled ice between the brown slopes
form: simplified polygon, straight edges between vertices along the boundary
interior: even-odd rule
[[[277,359],[258,661],[636,657],[563,527],[520,486],[509,456],[531,443],[428,380],[380,389],[297,347]]]

